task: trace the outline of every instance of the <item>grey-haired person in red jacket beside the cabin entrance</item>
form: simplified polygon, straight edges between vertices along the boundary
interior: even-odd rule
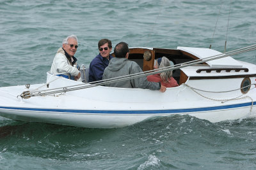
[[[166,57],[161,57],[156,60],[154,69],[161,69],[163,67],[170,66],[170,60]],[[172,77],[172,70],[164,71],[163,73],[157,73],[147,76],[148,81],[160,82],[165,87],[177,87],[179,86],[177,81]]]

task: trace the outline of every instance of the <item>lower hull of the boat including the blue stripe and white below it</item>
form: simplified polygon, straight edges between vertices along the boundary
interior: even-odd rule
[[[255,106],[255,103],[253,104]],[[47,122],[77,127],[114,128],[136,124],[148,118],[188,114],[211,122],[250,116],[252,103],[175,110],[62,110],[0,106],[0,115],[26,122]]]

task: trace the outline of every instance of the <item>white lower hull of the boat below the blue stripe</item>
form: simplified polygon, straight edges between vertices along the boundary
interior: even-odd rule
[[[20,108],[1,108],[0,115],[2,117],[11,118],[13,120],[21,120],[25,122],[44,122],[50,124],[71,125],[76,127],[91,128],[114,128],[124,127],[136,124],[148,118],[163,117],[168,115],[184,115],[188,114],[196,118],[209,120],[210,122],[221,122],[223,120],[236,120],[239,118],[252,117],[254,114],[250,112],[250,107],[241,107],[234,109],[218,110],[218,111],[195,111],[182,113],[143,113],[143,114],[122,114],[122,113],[74,113],[59,111],[31,111],[20,110]],[[255,111],[255,110],[254,110]],[[81,111],[82,112],[82,111]],[[111,111],[109,111],[111,112]],[[167,111],[166,111],[167,112]]]

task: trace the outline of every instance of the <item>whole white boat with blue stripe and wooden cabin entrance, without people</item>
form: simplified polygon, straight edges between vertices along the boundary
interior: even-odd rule
[[[147,118],[184,115],[211,122],[255,116],[256,65],[231,55],[255,50],[256,46],[221,53],[209,48],[130,48],[129,60],[145,71],[153,71],[154,60],[167,57],[179,87],[161,93],[147,89],[104,87],[68,80],[47,73],[47,83],[0,88],[0,115],[13,120],[114,128]],[[132,77],[134,76],[134,77]],[[29,87],[30,86],[30,87]],[[20,95],[21,94],[21,95]]]

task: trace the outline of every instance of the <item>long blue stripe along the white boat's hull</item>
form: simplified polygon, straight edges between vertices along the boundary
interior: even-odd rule
[[[253,105],[255,105],[253,103]],[[15,108],[0,106],[0,109],[4,110],[22,110],[22,111],[44,111],[44,112],[59,112],[59,113],[93,113],[93,114],[164,114],[164,113],[192,113],[198,111],[217,111],[226,110],[232,108],[241,108],[245,106],[252,106],[252,103],[232,104],[227,106],[214,106],[207,108],[191,108],[191,109],[179,109],[179,110],[58,110],[58,109],[38,109],[38,108]]]

